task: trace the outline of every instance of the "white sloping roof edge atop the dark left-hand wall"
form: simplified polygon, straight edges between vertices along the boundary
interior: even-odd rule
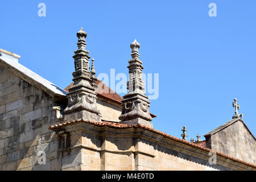
[[[19,64],[18,60],[15,61],[14,59],[11,59],[11,57],[0,55],[0,65],[9,68],[11,72],[27,81],[29,84],[42,88],[51,96],[66,97],[67,92],[65,90]]]

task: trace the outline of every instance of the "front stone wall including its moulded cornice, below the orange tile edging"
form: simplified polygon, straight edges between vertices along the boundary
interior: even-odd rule
[[[55,130],[67,170],[255,170],[245,164],[141,128],[114,129],[77,122]],[[67,145],[64,145],[66,143]]]

